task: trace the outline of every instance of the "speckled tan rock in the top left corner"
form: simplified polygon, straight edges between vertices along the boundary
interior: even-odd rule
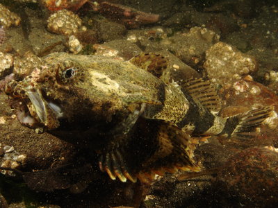
[[[17,16],[14,12],[11,12],[0,3],[0,24],[6,28],[10,26],[19,26],[20,17]]]

